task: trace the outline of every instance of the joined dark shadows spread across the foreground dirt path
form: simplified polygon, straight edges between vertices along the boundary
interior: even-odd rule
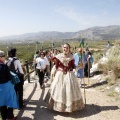
[[[66,112],[57,112],[54,110],[50,110],[47,108],[46,103],[43,101],[44,95],[45,95],[45,88],[42,89],[40,93],[39,100],[30,100],[33,96],[35,90],[36,90],[37,84],[35,85],[33,91],[31,92],[30,96],[28,97],[27,104],[35,105],[36,107],[26,107],[24,110],[20,111],[18,113],[18,119],[19,120],[55,120],[56,116],[63,116],[64,118],[84,118],[87,116],[98,114],[101,111],[107,111],[107,110],[117,110],[119,109],[118,106],[99,106],[95,104],[86,104],[86,107],[82,110],[78,110],[72,113],[66,113]],[[29,116],[22,117],[24,111],[35,111],[33,115],[33,119],[29,118]]]

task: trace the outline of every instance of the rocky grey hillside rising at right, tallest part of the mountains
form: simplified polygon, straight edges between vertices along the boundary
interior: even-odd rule
[[[120,26],[93,27],[79,31],[74,38],[83,38],[91,40],[114,40],[120,39]]]

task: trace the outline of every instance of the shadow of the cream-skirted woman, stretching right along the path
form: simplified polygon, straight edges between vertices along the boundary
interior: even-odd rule
[[[49,114],[52,114],[52,116],[63,116],[65,118],[67,117],[71,117],[74,119],[78,119],[78,118],[84,118],[84,117],[89,117],[95,114],[98,114],[101,111],[107,111],[107,110],[117,110],[119,109],[118,106],[99,106],[99,105],[94,105],[94,104],[87,104],[86,108],[82,109],[82,110],[78,110],[78,111],[74,111],[72,113],[62,113],[62,112],[56,112],[53,110],[49,110],[46,111],[46,116]],[[41,119],[44,120],[44,119]],[[45,119],[47,120],[47,119]],[[49,119],[49,120],[55,120],[55,119]]]

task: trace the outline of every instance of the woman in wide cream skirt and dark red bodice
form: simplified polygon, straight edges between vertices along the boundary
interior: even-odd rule
[[[63,53],[55,56],[54,79],[45,101],[48,108],[59,112],[72,112],[84,108],[78,80],[73,72],[74,58],[70,45],[63,45]]]

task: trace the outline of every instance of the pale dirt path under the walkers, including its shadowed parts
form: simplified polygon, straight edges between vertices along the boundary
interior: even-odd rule
[[[49,87],[41,90],[37,80],[25,85],[26,108],[15,110],[18,120],[120,120],[120,101],[109,97],[100,89],[86,89],[86,109],[73,113],[49,110],[43,99]],[[84,98],[84,89],[81,89]]]

